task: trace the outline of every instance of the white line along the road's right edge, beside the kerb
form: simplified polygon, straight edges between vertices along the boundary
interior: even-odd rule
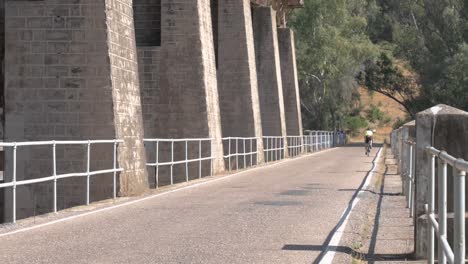
[[[364,190],[367,188],[367,186],[371,183],[371,180],[372,180],[372,177],[374,176],[374,172],[376,171],[376,169],[379,167],[378,166],[378,161],[380,159],[380,154],[382,152],[382,149],[383,148],[380,148],[379,152],[377,153],[377,157],[375,159],[375,166],[374,168],[372,169],[372,171],[369,173],[367,179],[366,179],[366,182],[364,183],[364,185],[361,187],[361,189],[359,189],[359,192],[358,194],[364,192]],[[338,228],[338,230],[335,231],[335,234],[333,234],[333,237],[332,239],[330,240],[330,243],[327,245],[326,249],[325,249],[325,256],[323,257],[323,259],[320,261],[320,264],[331,264],[333,262],[333,258],[335,257],[335,253],[336,253],[336,250],[330,250],[330,247],[337,247],[340,245],[340,240],[341,240],[341,237],[343,236],[343,233],[345,231],[345,228],[346,228],[346,224],[348,223],[348,219],[349,219],[349,216],[351,215],[351,213],[353,212],[353,209],[354,209],[354,206],[356,206],[356,204],[360,201],[361,199],[359,198],[359,195],[356,195],[356,197],[354,198],[353,202],[351,203],[351,209],[349,210],[348,212],[348,215],[346,216],[345,220],[343,221],[343,223],[341,224],[341,226]],[[348,210],[348,208],[346,208],[343,213],[341,214],[340,216],[340,219],[343,218],[343,215],[346,213],[346,210]]]

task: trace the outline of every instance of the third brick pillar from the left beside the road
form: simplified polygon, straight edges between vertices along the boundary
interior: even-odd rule
[[[262,125],[250,0],[217,2],[217,73],[223,137],[259,138],[256,147],[258,161],[262,162]]]

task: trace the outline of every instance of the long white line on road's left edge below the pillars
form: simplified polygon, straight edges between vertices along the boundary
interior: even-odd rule
[[[10,231],[10,232],[0,234],[0,238],[5,237],[5,236],[9,236],[9,235],[13,235],[13,234],[23,233],[23,232],[26,232],[26,231],[38,229],[38,228],[41,228],[41,227],[45,227],[45,226],[49,226],[49,225],[53,225],[53,224],[57,224],[57,223],[65,222],[65,221],[70,221],[70,220],[80,218],[80,217],[84,217],[84,216],[88,216],[88,215],[97,214],[97,213],[100,213],[100,212],[109,211],[109,210],[116,209],[116,208],[119,208],[119,207],[132,205],[132,204],[135,204],[135,203],[139,203],[139,202],[143,202],[143,201],[146,201],[146,200],[154,199],[156,197],[160,197],[160,196],[163,196],[163,195],[168,195],[168,194],[171,194],[171,193],[196,188],[196,187],[199,187],[199,186],[202,186],[202,185],[207,185],[207,184],[218,182],[218,181],[221,181],[221,180],[226,180],[226,179],[232,178],[234,176],[239,176],[239,175],[242,175],[242,174],[245,174],[245,173],[250,173],[252,171],[261,170],[261,169],[264,169],[264,168],[276,167],[276,166],[279,166],[279,165],[281,165],[283,163],[286,163],[286,162],[289,162],[289,161],[308,158],[308,157],[311,157],[311,156],[315,156],[317,154],[326,153],[326,152],[336,150],[336,149],[338,149],[338,148],[331,148],[331,149],[326,149],[326,150],[322,150],[322,151],[319,151],[319,152],[309,153],[309,154],[306,154],[306,155],[303,155],[303,156],[300,156],[300,157],[283,159],[283,160],[281,160],[279,162],[275,162],[275,163],[272,163],[272,164],[269,164],[269,165],[266,164],[266,165],[263,165],[263,166],[247,169],[245,171],[237,172],[237,173],[234,173],[234,174],[229,174],[227,176],[222,176],[220,178],[216,178],[216,179],[213,179],[213,180],[208,180],[208,181],[205,181],[205,182],[196,183],[196,184],[193,184],[193,185],[181,187],[181,188],[170,190],[170,191],[163,192],[163,193],[149,195],[149,196],[139,198],[139,199],[136,199],[136,200],[133,200],[133,201],[124,202],[124,203],[117,204],[117,205],[112,205],[112,206],[109,206],[109,207],[97,209],[97,210],[86,212],[86,213],[81,213],[81,214],[77,214],[77,215],[64,217],[64,218],[53,220],[53,221],[43,223],[43,224],[38,224],[38,225],[30,226],[30,227],[20,228],[20,229],[17,229],[17,230],[13,230],[13,231]]]

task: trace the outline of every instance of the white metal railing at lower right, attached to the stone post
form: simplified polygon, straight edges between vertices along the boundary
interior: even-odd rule
[[[439,263],[461,264],[465,263],[465,176],[468,171],[468,162],[457,159],[445,151],[440,151],[431,146],[426,147],[426,152],[431,158],[429,180],[429,203],[425,205],[428,217],[428,262],[434,263],[434,233],[438,238]],[[436,158],[437,173],[436,173]],[[447,165],[452,167],[453,177],[453,249],[447,241]],[[435,214],[435,185],[437,174],[437,215]]]

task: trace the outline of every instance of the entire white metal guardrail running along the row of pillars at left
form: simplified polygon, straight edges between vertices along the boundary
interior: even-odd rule
[[[287,143],[287,149],[292,153],[290,156],[298,156],[304,152],[315,152],[325,148],[331,148],[334,145],[340,145],[345,142],[344,139],[338,139],[338,134],[328,131],[312,131],[311,134],[305,136],[288,136],[288,137],[274,137],[274,136],[265,136],[262,137],[264,143],[264,154],[265,162],[271,162],[275,160],[280,160],[285,157],[285,143]],[[337,138],[334,138],[337,137]],[[243,161],[243,167],[254,166],[258,164],[258,154],[259,150],[257,149],[257,141],[260,138],[256,137],[227,137],[223,138],[223,142],[227,142],[228,149],[227,154],[223,155],[231,168],[231,159],[236,159],[236,170],[240,169],[238,164],[239,160]],[[212,153],[212,139],[211,138],[183,138],[183,139],[144,139],[145,145],[148,147],[148,144],[154,145],[156,150],[154,162],[147,162],[146,165],[149,167],[155,167],[156,170],[156,182],[158,179],[159,168],[162,166],[170,167],[170,181],[171,184],[174,184],[174,172],[173,166],[178,164],[185,164],[185,179],[189,180],[189,163],[198,163],[198,177],[202,177],[202,161],[210,162],[210,175],[213,175],[213,153]],[[170,160],[162,161],[160,157],[160,144],[161,143],[169,144]],[[209,142],[209,148],[204,148],[202,150],[202,143]],[[232,147],[232,144],[235,142],[235,148]],[[340,143],[341,142],[341,143]],[[16,222],[16,187],[24,186],[42,182],[53,182],[53,212],[57,212],[57,181],[65,178],[72,177],[86,177],[86,205],[90,203],[90,178],[95,175],[102,174],[113,174],[113,198],[117,196],[117,173],[122,172],[123,168],[117,167],[117,147],[119,143],[123,143],[123,140],[112,139],[112,140],[76,140],[76,141],[31,141],[31,142],[0,142],[0,147],[3,148],[12,148],[12,180],[4,183],[0,183],[0,189],[2,188],[12,188],[12,222]],[[189,149],[189,143],[196,144],[197,148],[195,151]],[[197,144],[198,143],[198,144]],[[113,167],[112,169],[103,169],[103,170],[91,170],[91,149],[95,144],[113,144]],[[183,144],[184,148],[184,158],[175,160],[175,144]],[[86,146],[86,171],[84,172],[73,172],[73,173],[57,173],[57,146],[58,145],[83,145]],[[31,146],[51,146],[52,154],[52,170],[53,173],[51,176],[45,176],[35,179],[27,180],[18,180],[17,179],[17,153],[20,148],[31,147]],[[241,148],[239,148],[241,146]],[[180,147],[180,146],[179,146]],[[206,146],[205,146],[206,147]],[[193,147],[192,147],[193,148]],[[208,152],[209,154],[205,154]],[[234,152],[235,149],[235,152]],[[189,151],[191,153],[198,152],[197,158],[189,158]],[[205,154],[205,156],[203,156]],[[250,162],[249,162],[250,161]],[[254,162],[255,161],[255,162]],[[156,186],[158,187],[158,186]]]

